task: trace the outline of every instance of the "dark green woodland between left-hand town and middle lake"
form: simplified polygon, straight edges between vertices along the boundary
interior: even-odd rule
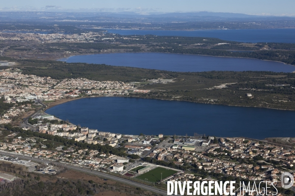
[[[92,80],[141,81],[143,78],[159,78],[165,71],[115,67],[86,63],[64,63],[60,61],[22,60],[24,74],[50,76],[54,79],[87,78]],[[45,69],[44,69],[45,68]]]

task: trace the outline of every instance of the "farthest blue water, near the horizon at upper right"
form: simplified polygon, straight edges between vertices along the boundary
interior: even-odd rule
[[[120,35],[158,35],[158,36],[183,36],[183,37],[212,37],[236,42],[276,42],[295,43],[294,28],[278,29],[229,29],[229,30],[117,30],[107,29],[109,33]]]

